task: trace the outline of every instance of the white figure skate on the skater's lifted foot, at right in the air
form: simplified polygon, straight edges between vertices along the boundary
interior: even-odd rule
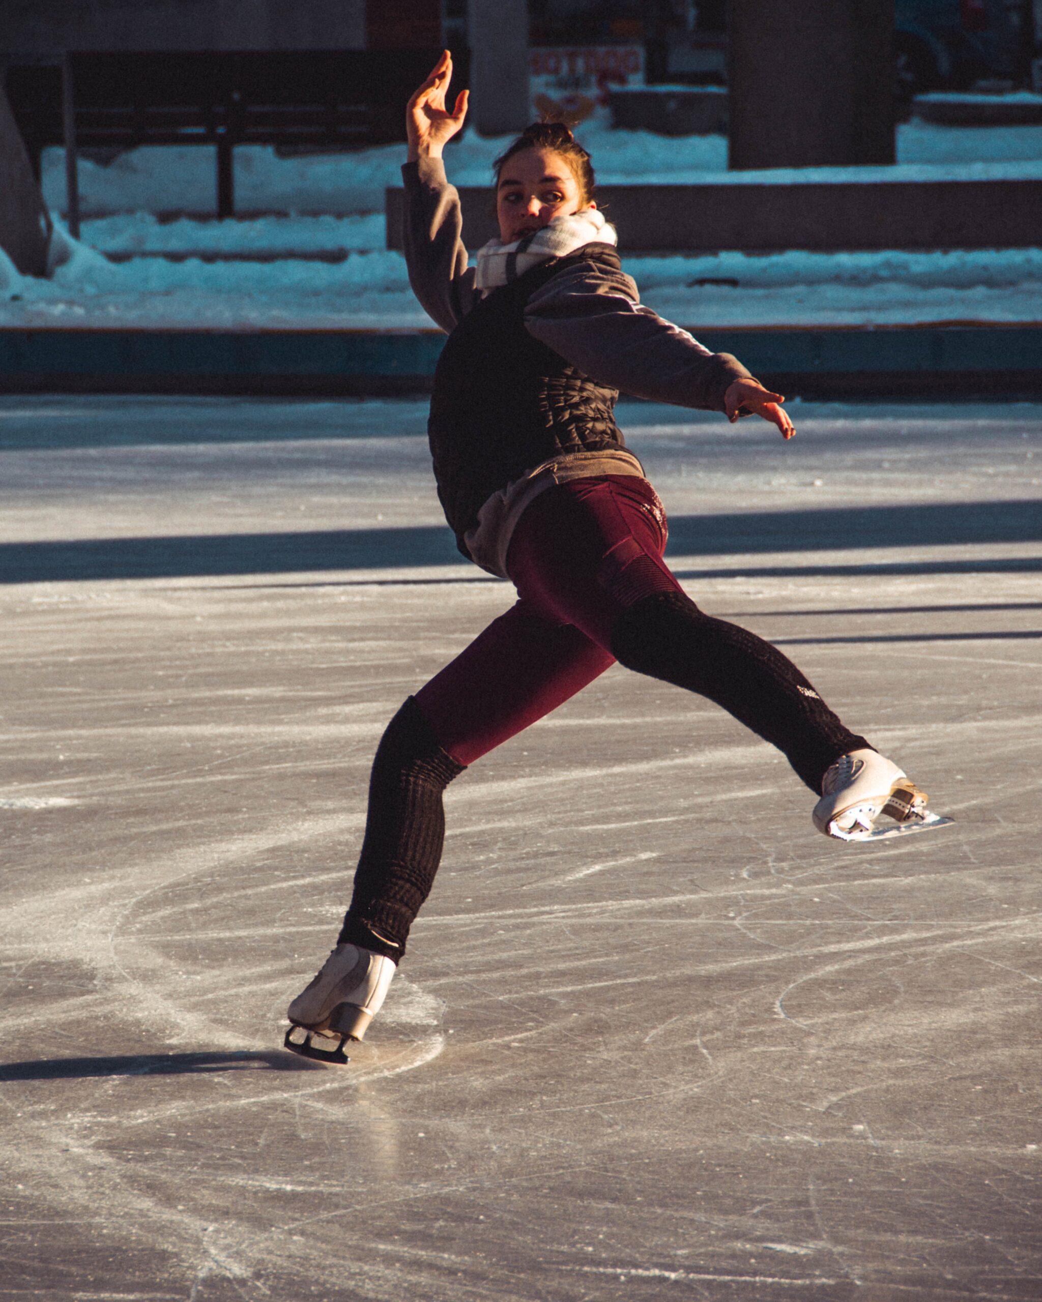
[[[826,772],[822,792],[824,794],[814,806],[814,827],[840,841],[878,841],[953,822],[929,812],[926,792],[909,781],[894,760],[874,750],[840,755]],[[894,823],[877,827],[880,815]]]

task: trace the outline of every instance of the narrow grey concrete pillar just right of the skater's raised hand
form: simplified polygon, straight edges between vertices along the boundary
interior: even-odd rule
[[[479,135],[524,130],[531,121],[526,0],[468,0],[468,33],[474,130]]]

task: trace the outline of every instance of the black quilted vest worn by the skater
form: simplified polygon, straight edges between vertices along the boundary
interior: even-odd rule
[[[525,329],[525,303],[581,262],[619,270],[611,245],[586,245],[492,290],[452,331],[434,374],[427,424],[438,496],[464,556],[464,534],[499,488],[564,452],[624,447],[617,389],[591,380]]]

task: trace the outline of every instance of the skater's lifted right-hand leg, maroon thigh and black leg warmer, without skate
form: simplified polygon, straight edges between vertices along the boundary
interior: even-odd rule
[[[870,749],[776,647],[705,615],[662,560],[664,517],[646,480],[559,484],[528,508],[511,577],[547,616],[574,622],[620,664],[716,702],[784,753],[817,794],[840,755]]]

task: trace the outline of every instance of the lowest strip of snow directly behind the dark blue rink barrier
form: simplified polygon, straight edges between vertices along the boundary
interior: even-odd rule
[[[357,219],[361,220],[361,219]],[[246,223],[229,223],[221,236]],[[264,219],[250,240],[290,247],[307,219]],[[343,223],[322,236],[382,240]],[[198,223],[158,227],[154,217],[90,223],[87,234],[125,245],[162,234],[198,240]],[[188,229],[186,229],[188,228]],[[207,228],[208,229],[208,228]],[[366,229],[369,234],[366,236]],[[430,328],[409,289],[405,259],[383,249],[346,251],[337,264],[302,260],[204,263],[141,259],[113,264],[59,232],[63,262],[52,280],[20,276],[0,260],[0,326],[215,328]],[[184,247],[184,246],[180,246]],[[972,319],[1032,322],[1042,316],[1042,249],[953,253],[625,258],[645,302],[701,329],[776,324],[899,324]]]

